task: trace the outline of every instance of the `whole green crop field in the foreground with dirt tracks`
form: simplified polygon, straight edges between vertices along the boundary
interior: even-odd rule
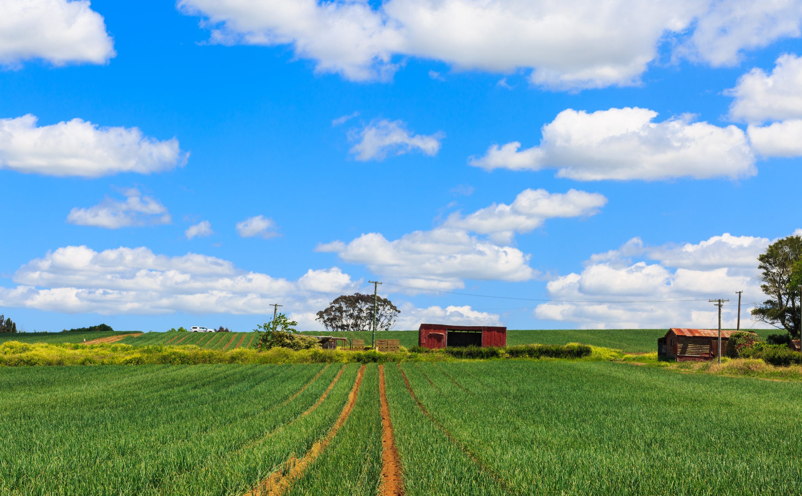
[[[384,374],[409,496],[802,490],[788,428],[800,383],[588,361]],[[280,481],[283,494],[373,496],[381,480],[377,365],[9,368],[0,390],[0,494],[239,495]]]

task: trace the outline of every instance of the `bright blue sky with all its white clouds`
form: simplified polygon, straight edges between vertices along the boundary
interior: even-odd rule
[[[799,2],[20,3],[0,312],[28,331],[249,330],[269,303],[316,329],[375,279],[399,329],[711,326],[802,227]],[[413,6],[465,15],[432,34]]]

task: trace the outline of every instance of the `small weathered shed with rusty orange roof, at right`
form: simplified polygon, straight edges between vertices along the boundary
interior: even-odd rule
[[[727,349],[727,340],[737,331],[721,331],[721,353]],[[691,361],[712,360],[719,352],[718,329],[686,329],[672,327],[657,340],[658,360]]]

